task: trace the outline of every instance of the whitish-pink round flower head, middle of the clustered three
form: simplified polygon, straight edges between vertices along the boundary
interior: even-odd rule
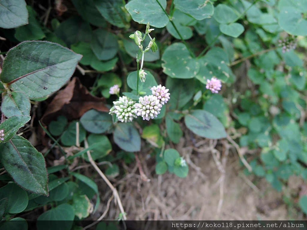
[[[149,119],[153,119],[157,117],[160,113],[162,105],[160,104],[160,100],[154,96],[144,96],[139,98],[139,103],[135,103],[137,109],[137,116],[143,117],[143,120],[149,121]]]

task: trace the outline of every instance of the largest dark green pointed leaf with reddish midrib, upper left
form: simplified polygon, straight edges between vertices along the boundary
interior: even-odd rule
[[[41,98],[68,81],[81,57],[58,44],[25,41],[7,53],[0,78],[13,91]]]

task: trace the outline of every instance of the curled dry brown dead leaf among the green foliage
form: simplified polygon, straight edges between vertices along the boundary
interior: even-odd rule
[[[68,121],[79,119],[90,109],[108,112],[105,105],[105,98],[98,98],[91,95],[86,87],[76,77],[72,78],[68,85],[58,92],[48,105],[43,117],[42,125],[47,128],[51,121],[56,120],[60,115],[67,117]],[[42,131],[43,143],[46,143],[45,132]]]

